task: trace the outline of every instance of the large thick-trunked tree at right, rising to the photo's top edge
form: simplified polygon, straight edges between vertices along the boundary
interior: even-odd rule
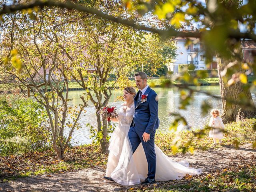
[[[239,6],[242,5],[242,0],[226,0],[226,1],[218,1],[219,7],[216,8],[215,11],[216,18],[214,22],[210,24],[212,28],[214,25],[219,22],[223,22],[226,20],[232,21],[228,13],[228,10],[237,10]],[[208,9],[211,9],[212,1],[206,0],[206,5]],[[217,5],[217,2],[216,2]],[[238,22],[233,20],[234,27],[238,28]],[[214,33],[212,33],[214,35]],[[208,36],[207,36],[208,38]],[[220,37],[220,39],[222,39]],[[206,44],[210,46],[212,42],[208,39],[204,39]],[[243,60],[242,60],[242,48],[240,39],[233,39],[229,41],[225,41],[224,39],[218,40],[218,46],[222,47],[232,47],[233,49],[230,52],[224,51],[220,52],[214,49],[206,50],[208,56],[212,56],[216,52],[217,58],[217,66],[218,66],[218,76],[220,82],[220,93],[222,98],[222,120],[223,122],[231,122],[231,121],[240,121],[245,118],[252,118],[256,116],[255,108],[248,108],[247,106],[239,105],[239,101],[241,99],[246,102],[253,104],[252,94],[248,86],[245,86],[247,83],[245,74],[245,68],[243,68]],[[232,66],[232,68],[230,68]],[[242,79],[242,81],[241,81]],[[230,102],[234,101],[233,103]]]

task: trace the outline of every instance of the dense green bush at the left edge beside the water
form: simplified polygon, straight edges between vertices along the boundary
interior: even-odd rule
[[[50,128],[42,105],[31,99],[0,100],[0,154],[24,153],[49,147]]]

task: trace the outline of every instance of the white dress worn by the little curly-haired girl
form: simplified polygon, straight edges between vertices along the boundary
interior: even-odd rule
[[[224,130],[224,124],[219,116],[216,118],[211,117],[209,126],[212,127],[212,129],[209,132],[210,138],[216,138],[216,139],[224,138],[223,133],[221,131],[221,130]]]

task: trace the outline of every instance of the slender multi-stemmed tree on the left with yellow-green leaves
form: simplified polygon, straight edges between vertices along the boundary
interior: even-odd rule
[[[85,98],[81,97],[81,106],[68,106],[70,62],[60,45],[71,40],[68,31],[72,26],[64,24],[60,15],[53,16],[56,16],[56,12],[47,8],[40,13],[32,11],[10,16],[14,40],[6,40],[12,44],[11,58],[7,57],[1,70],[8,74],[9,82],[19,82],[22,89],[32,92],[31,96],[44,106],[52,130],[52,147],[58,159],[63,159],[74,130],[80,126],[78,120],[87,104]],[[6,37],[8,32],[9,28],[6,27]],[[5,50],[8,55],[9,50]],[[65,129],[67,136],[64,135]]]

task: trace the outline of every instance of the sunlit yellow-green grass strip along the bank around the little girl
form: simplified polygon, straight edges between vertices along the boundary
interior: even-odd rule
[[[255,142],[256,131],[253,129],[254,124],[256,124],[256,118],[226,124],[222,144],[238,147],[239,145]],[[156,145],[168,156],[171,156],[176,152],[182,153],[189,151],[189,148],[187,147],[185,150],[185,147],[190,140],[190,145],[193,149],[207,150],[208,148],[213,147],[213,141],[211,138],[208,138],[208,134],[208,130],[195,130],[193,132],[182,131],[179,134],[180,146],[177,151],[174,151],[174,144],[172,141],[176,137],[175,132],[169,132],[167,134],[158,133],[156,134]],[[218,147],[218,145],[216,147]]]

